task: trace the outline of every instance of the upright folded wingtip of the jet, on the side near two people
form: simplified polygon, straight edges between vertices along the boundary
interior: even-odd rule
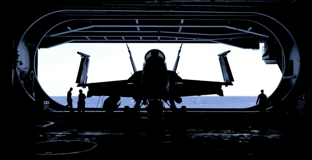
[[[88,67],[89,67],[89,55],[86,55],[81,52],[77,52],[79,55],[81,55],[81,61],[79,65],[79,70],[78,70],[78,75],[76,79],[76,83],[78,84],[86,84],[87,83],[87,78],[88,78]],[[82,88],[85,88],[82,87]]]

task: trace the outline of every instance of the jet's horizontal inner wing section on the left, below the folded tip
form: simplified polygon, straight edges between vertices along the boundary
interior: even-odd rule
[[[132,97],[137,94],[137,87],[134,87],[132,83],[129,84],[128,80],[78,84],[77,87],[88,87],[87,98],[92,96]]]

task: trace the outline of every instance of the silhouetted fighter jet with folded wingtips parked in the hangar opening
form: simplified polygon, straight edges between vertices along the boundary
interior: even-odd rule
[[[165,55],[158,49],[147,51],[144,56],[143,69],[137,70],[128,44],[127,48],[134,73],[127,80],[98,83],[86,83],[90,56],[77,52],[82,57],[76,80],[77,87],[88,87],[87,98],[109,96],[103,103],[103,109],[106,112],[114,112],[119,107],[120,97],[132,97],[135,101],[132,108],[134,111],[139,111],[141,106],[145,105],[150,112],[162,112],[165,104],[168,104],[170,110],[174,111],[177,109],[175,102],[180,104],[181,97],[214,94],[223,96],[222,85],[226,87],[233,85],[234,79],[226,57],[230,51],[218,55],[224,82],[213,82],[186,80],[176,73],[182,44],[173,70],[167,69]]]

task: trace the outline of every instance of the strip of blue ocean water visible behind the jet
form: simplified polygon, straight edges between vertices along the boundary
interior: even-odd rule
[[[50,96],[51,99],[59,104],[67,105],[66,96]],[[72,96],[73,108],[77,108],[78,96]],[[92,96],[85,99],[85,108],[102,108],[104,100],[108,96]],[[120,97],[121,104],[119,108],[129,106],[132,108],[135,104],[132,97]],[[186,106],[186,108],[202,108],[202,109],[243,109],[256,105],[257,96],[188,96],[181,97],[182,103],[175,103],[177,108]],[[169,108],[168,104],[164,104],[165,108]],[[142,106],[141,108],[144,108]]]

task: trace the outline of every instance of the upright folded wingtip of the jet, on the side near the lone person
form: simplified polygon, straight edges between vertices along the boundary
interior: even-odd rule
[[[226,57],[229,52],[230,51],[225,51],[218,55],[224,82],[234,82],[232,71]],[[227,85],[225,86],[227,87]]]

